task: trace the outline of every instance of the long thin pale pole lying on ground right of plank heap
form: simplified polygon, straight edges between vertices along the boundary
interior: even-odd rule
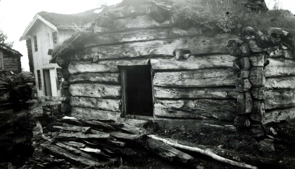
[[[156,137],[158,138],[160,136],[156,136]],[[160,138],[162,138],[162,137],[160,137]],[[162,139],[164,139],[164,138],[162,138]],[[249,163],[251,165],[255,165],[258,167],[266,167],[266,166],[272,166],[272,165],[276,164],[276,160],[269,159],[269,158],[244,155],[244,154],[240,154],[240,153],[229,151],[229,150],[224,150],[224,149],[217,148],[217,147],[197,145],[194,143],[184,142],[184,141],[180,141],[180,140],[171,140],[171,139],[167,139],[167,138],[165,138],[165,140],[167,140],[168,142],[171,142],[171,143],[175,143],[175,144],[199,148],[199,149],[202,149],[205,151],[212,152],[216,155],[227,158],[229,160],[238,161],[241,163]],[[182,150],[187,150],[187,149],[182,149]]]

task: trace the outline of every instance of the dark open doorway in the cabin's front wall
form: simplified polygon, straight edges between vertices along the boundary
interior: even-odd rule
[[[123,96],[126,96],[123,101],[126,104],[125,114],[153,116],[150,65],[124,66],[122,71]]]

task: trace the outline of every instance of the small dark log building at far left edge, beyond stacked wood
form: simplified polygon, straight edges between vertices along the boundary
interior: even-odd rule
[[[19,51],[0,43],[0,70],[9,70],[15,74],[21,73],[20,57],[22,54]]]

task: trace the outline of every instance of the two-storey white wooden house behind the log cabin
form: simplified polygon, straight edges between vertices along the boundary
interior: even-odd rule
[[[77,14],[39,12],[24,30],[21,40],[26,40],[30,71],[36,76],[38,100],[41,96],[60,96],[62,78],[59,66],[49,63],[48,49],[70,37],[78,27],[87,27],[97,11],[105,6]]]

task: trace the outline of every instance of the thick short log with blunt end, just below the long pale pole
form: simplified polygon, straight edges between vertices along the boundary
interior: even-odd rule
[[[194,157],[181,152],[163,142],[152,139],[150,137],[145,137],[142,141],[144,142],[148,150],[153,151],[154,153],[163,157],[165,160],[179,161],[188,164],[193,163]]]

